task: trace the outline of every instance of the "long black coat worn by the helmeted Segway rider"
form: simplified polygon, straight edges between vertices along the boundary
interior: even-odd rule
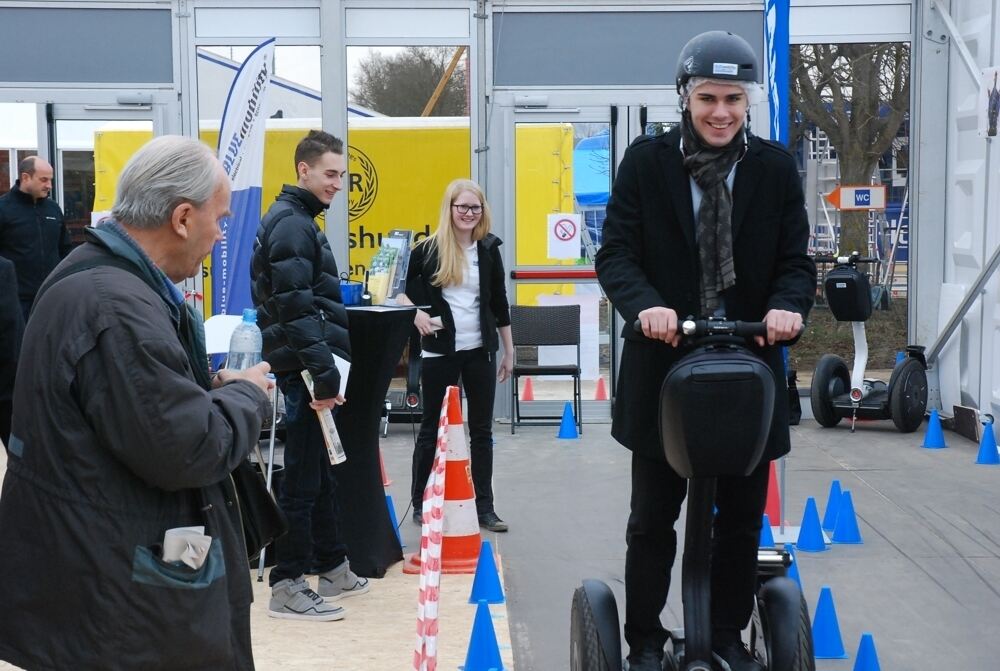
[[[780,145],[751,137],[733,184],[736,285],[725,294],[729,319],[759,321],[772,308],[813,304],[816,266],[807,255],[809,222],[795,160]],[[625,339],[612,435],[630,450],[664,459],[657,430],[659,390],[683,351],[632,330],[640,311],[672,308],[697,315],[698,249],[691,181],[680,131],[641,137],[625,152],[608,201],[597,275],[624,318]],[[765,459],[788,452],[788,394],[780,349],[758,354],[775,373],[775,408]],[[720,421],[725,408],[719,408]]]

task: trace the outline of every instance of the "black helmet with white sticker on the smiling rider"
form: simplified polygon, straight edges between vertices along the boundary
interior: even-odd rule
[[[695,35],[677,57],[677,93],[692,77],[756,82],[757,54],[746,40],[725,30]]]

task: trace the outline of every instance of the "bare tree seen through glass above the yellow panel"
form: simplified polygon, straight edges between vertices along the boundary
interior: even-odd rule
[[[358,64],[351,101],[388,116],[420,116],[434,94],[457,47],[406,47],[384,55],[373,51]],[[430,116],[465,116],[464,64],[448,79]]]

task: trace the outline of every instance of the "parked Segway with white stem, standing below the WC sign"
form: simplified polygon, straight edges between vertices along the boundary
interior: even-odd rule
[[[813,416],[821,426],[835,426],[844,417],[851,418],[851,432],[858,419],[892,419],[903,433],[916,431],[927,410],[927,360],[924,348],[907,345],[906,356],[892,369],[889,383],[865,379],[868,365],[868,340],[865,321],[872,313],[872,292],[868,276],[858,270],[860,263],[877,259],[850,256],[816,257],[817,261],[835,262],[823,288],[834,319],[851,322],[854,333],[854,368],[836,354],[824,354],[813,373],[809,399]]]

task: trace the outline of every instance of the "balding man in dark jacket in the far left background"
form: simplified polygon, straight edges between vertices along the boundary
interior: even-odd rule
[[[14,262],[24,320],[38,287],[73,248],[52,192],[52,166],[29,156],[17,166],[19,179],[0,196],[0,256]]]

